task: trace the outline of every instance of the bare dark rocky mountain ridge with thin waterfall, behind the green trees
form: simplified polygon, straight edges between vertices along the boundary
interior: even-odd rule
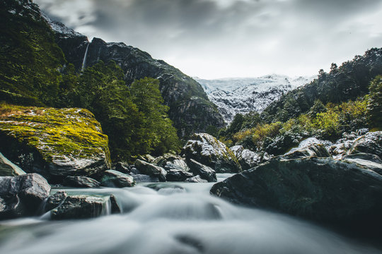
[[[86,36],[64,24],[47,16],[45,19],[54,30],[55,40],[66,60],[74,64],[76,71],[93,66],[98,61],[115,61],[122,68],[127,85],[145,77],[157,78],[164,103],[170,107],[168,115],[180,137],[206,131],[208,126],[224,126],[221,114],[216,105],[209,101],[202,86],[177,68],[122,42],[104,42],[100,38],[89,42]]]

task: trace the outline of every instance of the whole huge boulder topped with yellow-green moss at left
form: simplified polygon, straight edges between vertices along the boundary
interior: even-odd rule
[[[1,104],[0,152],[54,181],[110,169],[108,136],[86,109]]]

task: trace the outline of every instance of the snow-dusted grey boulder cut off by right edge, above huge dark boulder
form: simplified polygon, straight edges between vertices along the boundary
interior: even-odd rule
[[[382,131],[369,132],[354,140],[352,148],[347,153],[350,155],[359,152],[382,158]]]

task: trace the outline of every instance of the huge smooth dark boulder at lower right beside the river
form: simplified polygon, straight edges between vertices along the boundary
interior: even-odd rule
[[[272,159],[216,183],[211,193],[317,222],[347,226],[382,222],[382,176],[331,158]]]

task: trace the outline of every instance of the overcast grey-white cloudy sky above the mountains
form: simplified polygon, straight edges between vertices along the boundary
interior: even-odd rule
[[[382,47],[381,0],[34,0],[199,78],[316,75]]]

